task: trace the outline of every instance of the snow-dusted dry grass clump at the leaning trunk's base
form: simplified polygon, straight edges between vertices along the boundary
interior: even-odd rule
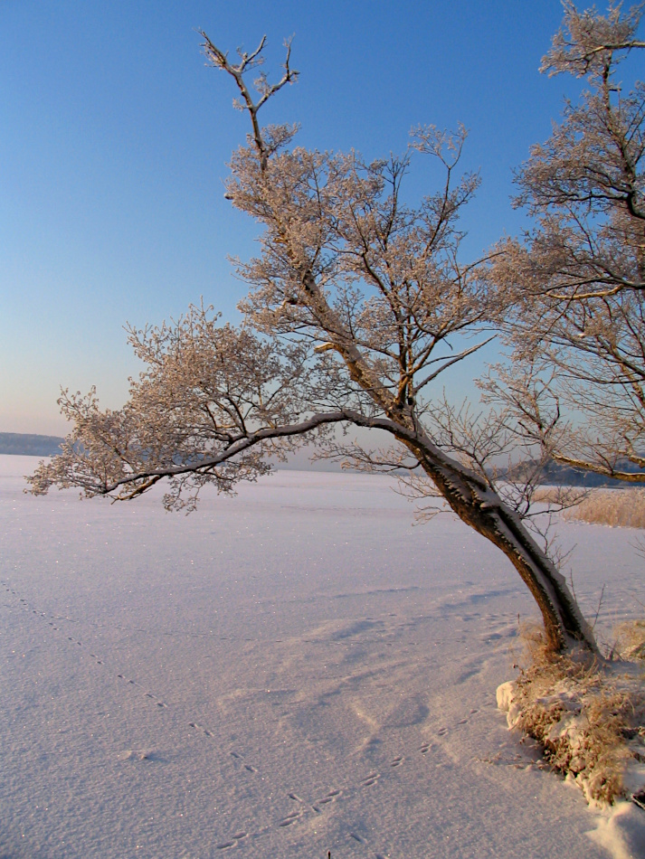
[[[640,630],[645,645],[645,625]],[[524,632],[531,664],[498,688],[509,728],[540,743],[545,760],[574,779],[588,802],[645,800],[645,663],[599,663],[588,653],[555,654],[541,631]],[[645,647],[643,648],[645,650]]]

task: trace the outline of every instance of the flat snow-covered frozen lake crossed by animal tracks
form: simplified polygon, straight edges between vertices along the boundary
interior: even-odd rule
[[[535,611],[450,514],[294,471],[187,517],[33,498],[36,462],[0,457],[0,856],[645,855],[507,732]],[[638,532],[560,533],[602,633],[642,616]]]

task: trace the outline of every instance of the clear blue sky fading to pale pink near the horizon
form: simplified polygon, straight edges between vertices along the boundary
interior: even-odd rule
[[[267,71],[295,34],[300,80],[264,121],[299,121],[305,146],[387,155],[419,123],[463,122],[475,256],[521,230],[513,168],[575,94],[538,73],[561,19],[559,0],[0,0],[0,431],[64,432],[60,386],[119,407],[139,369],[126,321],[202,296],[238,318],[227,257],[256,230],[223,178],[246,123],[196,28],[232,52],[266,33]],[[413,190],[432,178],[420,168]]]

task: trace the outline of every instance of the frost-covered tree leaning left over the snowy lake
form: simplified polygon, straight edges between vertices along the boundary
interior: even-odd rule
[[[259,121],[297,78],[289,46],[281,79],[260,72],[251,85],[264,40],[232,61],[202,35],[251,122],[226,184],[232,205],[261,226],[260,255],[239,266],[250,287],[243,324],[222,325],[211,308],[191,307],[176,324],[131,330],[147,369],[128,402],[101,411],[93,391],[64,393],[74,429],[62,454],[31,478],[33,492],[78,486],[129,499],[166,481],[166,506],[190,508],[205,484],[231,491],[312,437],[338,451],[339,430],[381,430],[389,453],[349,453],[366,467],[430,481],[514,565],[551,646],[596,652],[564,576],[526,525],[526,505],[488,467],[504,447],[503,423],[475,430],[433,395],[435,380],[488,342],[507,311],[489,260],[460,259],[458,219],[478,185],[460,173],[463,129],[451,136],[421,127],[403,156],[369,162],[354,151],[308,150],[295,142],[297,127]],[[440,160],[445,182],[413,207],[402,188],[420,155]]]

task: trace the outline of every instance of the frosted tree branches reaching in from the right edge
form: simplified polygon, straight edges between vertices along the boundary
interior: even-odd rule
[[[517,176],[518,204],[535,216],[507,241],[492,277],[517,300],[503,325],[513,383],[499,368],[485,386],[519,434],[562,463],[645,480],[645,85],[630,91],[621,62],[645,47],[643,6],[606,15],[564,4],[542,71],[586,80],[577,105]],[[545,380],[548,383],[545,384]],[[531,400],[542,384],[540,401]]]

